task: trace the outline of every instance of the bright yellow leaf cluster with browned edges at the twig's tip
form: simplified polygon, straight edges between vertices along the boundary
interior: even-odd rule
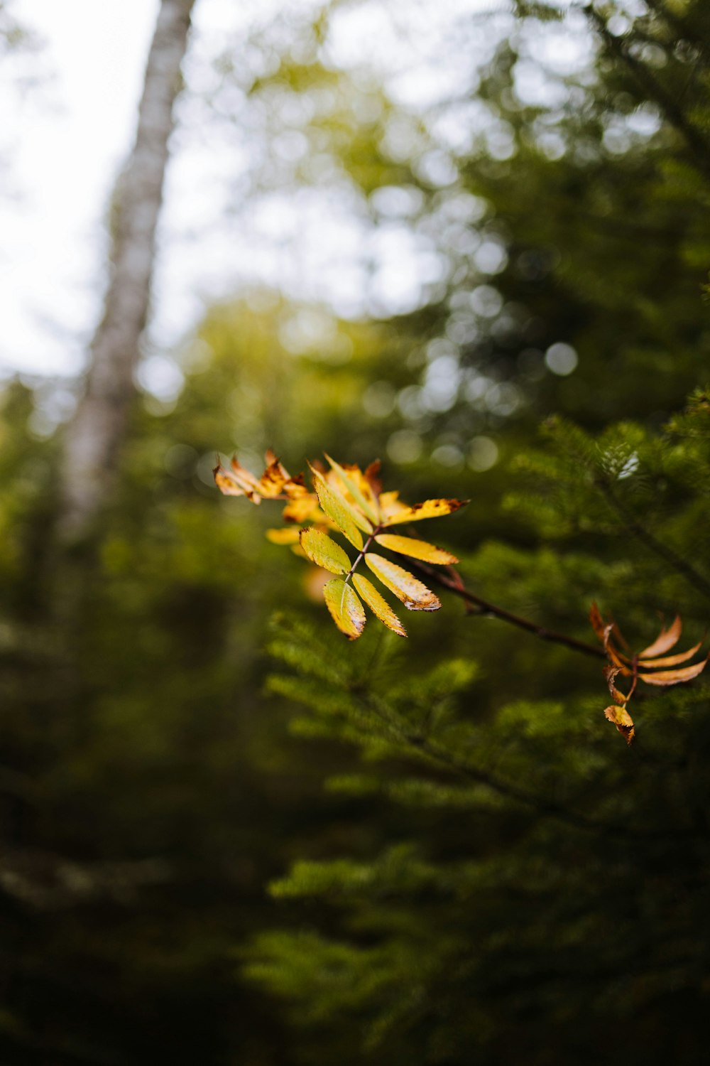
[[[334,574],[324,587],[326,605],[333,621],[350,640],[356,640],[365,627],[362,601],[393,632],[407,636],[401,621],[387,601],[363,574],[356,570],[361,563],[369,569],[410,611],[437,611],[439,598],[409,570],[373,550],[383,548],[396,555],[426,563],[451,565],[458,560],[448,551],[426,540],[385,532],[403,522],[420,521],[449,515],[466,500],[425,500],[410,506],[396,491],[382,491],[379,463],[366,470],[336,463],[326,456],[329,470],[311,466],[312,490],[302,474],[292,478],[274,452],[266,453],[266,469],[260,479],[242,467],[236,458],[229,469],[219,464],[214,471],[218,488],[227,496],[246,496],[252,503],[262,500],[283,500],[282,529],[267,531],[274,544],[292,545],[317,566]],[[351,561],[347,551],[333,540],[340,534],[358,552]]]

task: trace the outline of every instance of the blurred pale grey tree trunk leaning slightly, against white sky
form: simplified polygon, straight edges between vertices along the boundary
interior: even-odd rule
[[[135,394],[133,377],[148,317],[174,104],[194,5],[195,0],[160,4],[135,144],[116,189],[103,314],[90,346],[84,395],[67,427],[60,511],[65,539],[89,530],[111,491]]]

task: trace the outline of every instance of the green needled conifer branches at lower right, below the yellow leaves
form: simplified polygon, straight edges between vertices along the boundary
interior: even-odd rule
[[[707,618],[708,597],[688,580],[687,540],[657,526],[639,537],[627,528],[639,521],[633,511],[614,511],[620,526],[610,529],[596,497],[606,479],[629,506],[638,489],[642,506],[647,482],[662,478],[674,521],[690,508],[707,522],[703,485],[684,487],[679,504],[668,470],[681,432],[696,461],[707,448],[703,403],[694,398],[661,437],[637,425],[596,438],[564,422],[548,427],[554,450],[526,463],[524,475],[533,471],[550,506],[585,520],[564,535],[557,529],[556,548],[484,546],[470,567],[486,595],[511,597],[515,587],[513,602],[571,620],[596,587],[650,640],[649,605],[655,599],[658,609],[663,591],[701,639],[692,619]],[[580,478],[585,469],[591,477]],[[590,536],[594,552],[585,554]],[[598,666],[580,669],[559,648],[529,648],[532,637],[510,631],[486,637],[482,619],[467,626],[482,674],[469,657],[428,672],[402,672],[401,657],[384,652],[371,662],[314,657],[315,632],[279,625],[274,653],[311,681],[296,691],[287,674],[275,674],[271,689],[309,707],[320,736],[357,744],[379,766],[332,777],[330,793],[376,804],[385,823],[393,808],[401,814],[397,835],[368,857],[300,859],[271,884],[278,901],[302,901],[308,927],[258,936],[247,972],[292,1004],[295,1023],[315,1025],[324,1047],[336,1024],[373,1063],[448,1063],[474,1052],[494,1063],[523,1048],[543,1063],[550,1040],[551,1061],[592,1063],[604,1048],[621,1063],[673,1024],[679,996],[688,1032],[698,1034],[707,901],[694,882],[703,860],[691,855],[710,810],[698,777],[708,683],[637,697],[640,746],[629,761],[604,723]],[[299,731],[307,721],[297,720]],[[664,902],[679,884],[682,917]],[[688,1036],[683,1061],[697,1038]]]

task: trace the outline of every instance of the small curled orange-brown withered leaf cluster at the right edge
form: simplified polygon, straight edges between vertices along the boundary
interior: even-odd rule
[[[610,722],[613,722],[622,736],[626,738],[626,743],[630,744],[633,740],[633,721],[627,710],[627,706],[635,692],[638,682],[643,681],[645,684],[668,685],[690,681],[703,673],[710,658],[710,652],[708,652],[705,659],[693,663],[691,666],[682,666],[680,669],[675,668],[679,663],[688,662],[689,659],[697,655],[703,646],[703,641],[699,641],[687,651],[680,651],[672,656],[665,655],[666,651],[675,647],[680,639],[682,631],[680,615],[676,615],[667,629],[661,629],[661,632],[653,644],[649,644],[643,651],[639,651],[638,655],[629,652],[629,646],[622,636],[616,623],[613,618],[610,618],[608,621],[605,620],[596,603],[592,604],[590,621],[592,623],[594,632],[604,644],[607,658],[609,659],[609,664],[605,666],[604,671],[613,704],[607,707],[604,713]],[[620,675],[630,679],[630,687],[626,693],[616,687],[616,678]]]

